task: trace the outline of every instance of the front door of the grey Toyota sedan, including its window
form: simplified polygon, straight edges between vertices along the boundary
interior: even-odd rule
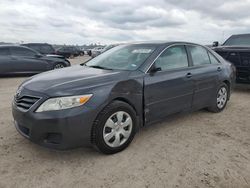
[[[184,45],[164,50],[144,78],[146,123],[158,121],[169,114],[191,108],[193,82]]]

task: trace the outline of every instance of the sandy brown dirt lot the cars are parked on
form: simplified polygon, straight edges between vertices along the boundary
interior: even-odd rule
[[[250,85],[238,85],[220,114],[171,117],[106,156],[91,148],[48,150],[19,135],[11,100],[24,79],[0,79],[1,188],[250,187]]]

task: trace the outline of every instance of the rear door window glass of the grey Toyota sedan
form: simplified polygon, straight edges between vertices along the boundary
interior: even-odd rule
[[[207,50],[201,46],[189,46],[194,65],[210,64]]]

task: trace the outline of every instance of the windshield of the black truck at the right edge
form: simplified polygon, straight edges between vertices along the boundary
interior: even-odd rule
[[[223,44],[223,46],[250,46],[250,35],[235,35],[231,36],[227,41]]]

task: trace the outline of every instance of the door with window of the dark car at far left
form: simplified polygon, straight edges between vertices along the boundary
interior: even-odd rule
[[[11,47],[13,69],[19,73],[39,73],[49,69],[48,63],[37,56],[33,50],[23,47]]]

